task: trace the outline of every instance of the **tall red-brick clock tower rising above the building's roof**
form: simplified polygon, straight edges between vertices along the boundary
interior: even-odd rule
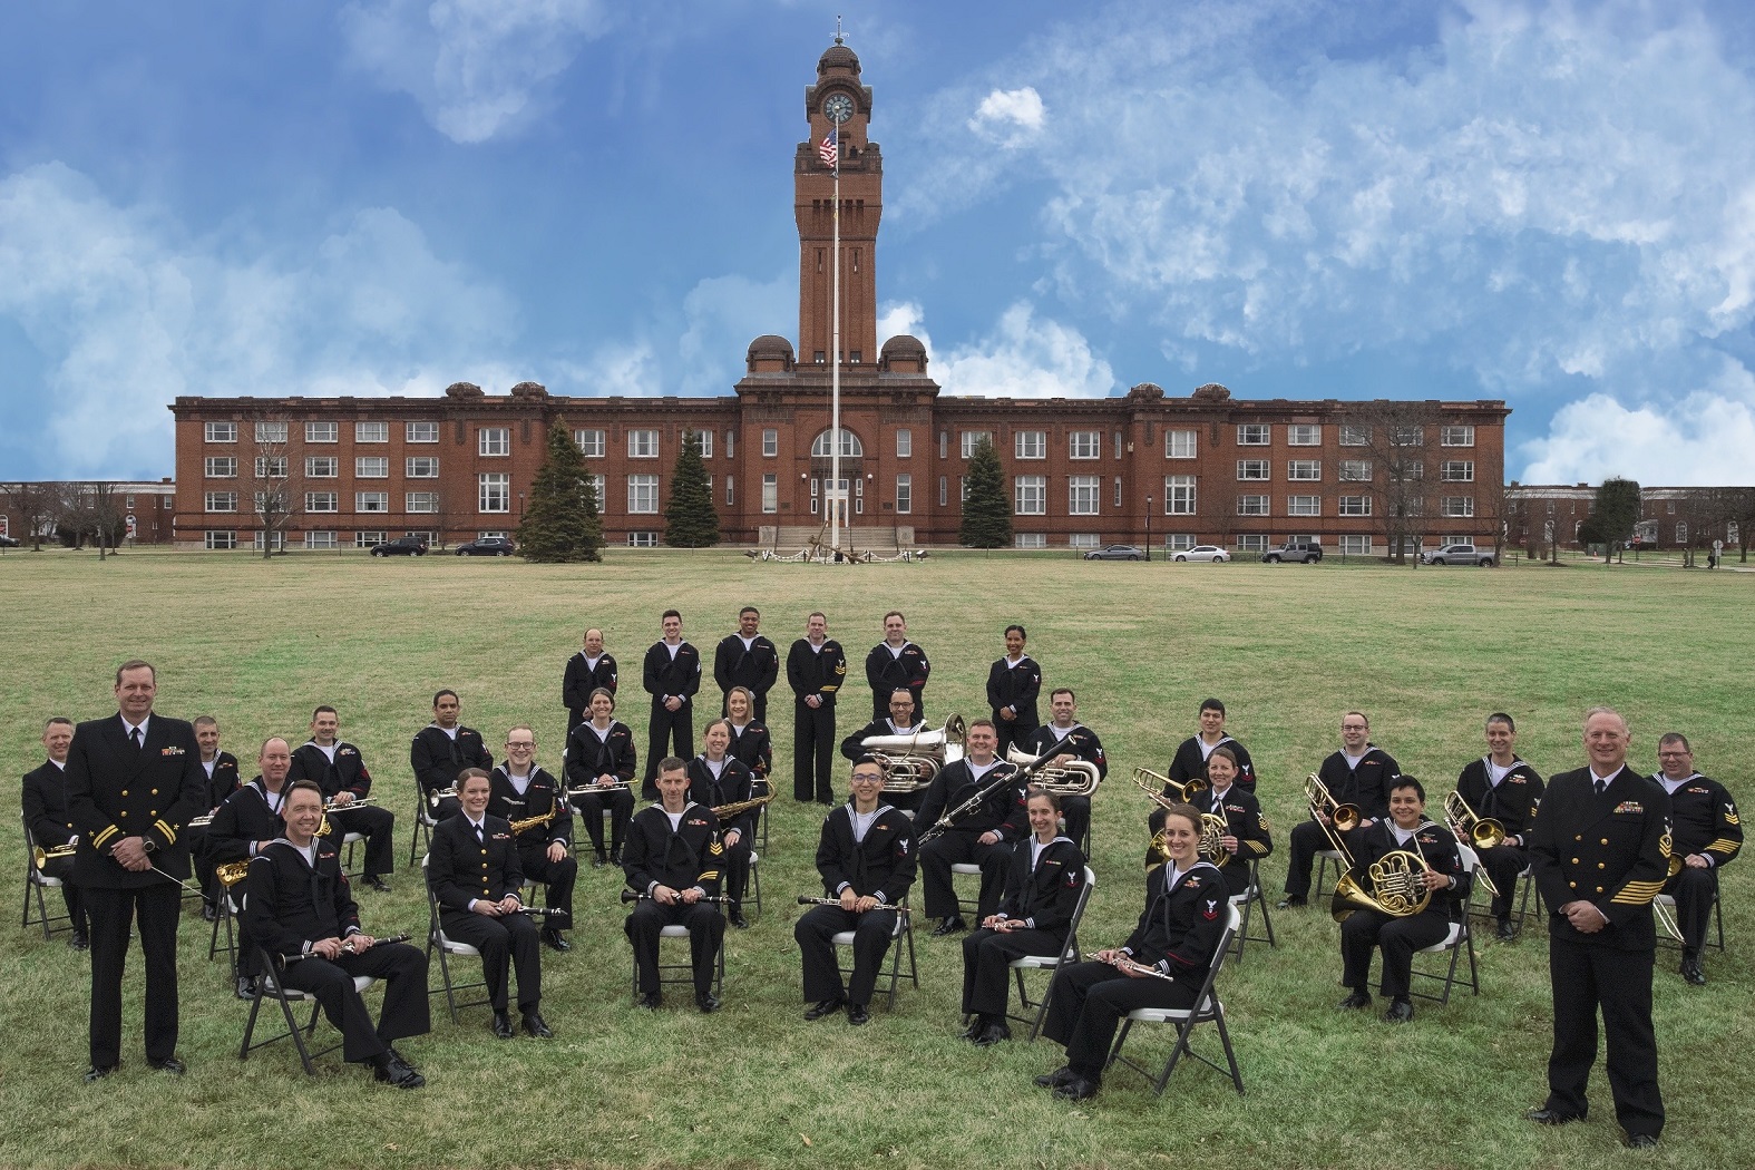
[[[872,91],[860,84],[860,58],[835,37],[804,91],[811,137],[793,158],[799,221],[799,367],[825,365],[834,337],[835,168],[823,139],[839,135],[841,158],[841,360],[878,361],[878,218],[883,212],[883,154],[870,140]]]

